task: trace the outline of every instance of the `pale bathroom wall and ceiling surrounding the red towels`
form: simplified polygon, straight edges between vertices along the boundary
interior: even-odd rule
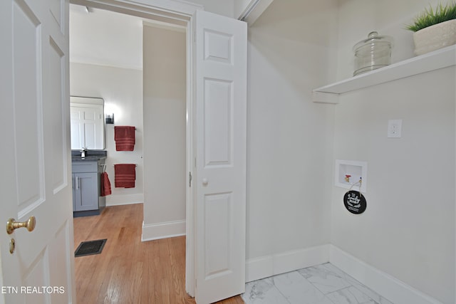
[[[105,172],[112,185],[103,198],[107,206],[144,201],[142,86],[142,20],[71,4],[70,95],[103,100]],[[105,124],[105,115],[113,113],[113,123]],[[119,125],[135,127],[133,151],[116,150],[114,126]],[[114,164],[135,164],[130,188],[115,187]]]

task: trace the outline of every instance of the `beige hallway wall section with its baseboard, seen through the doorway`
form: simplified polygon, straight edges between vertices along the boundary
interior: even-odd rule
[[[144,27],[142,239],[185,234],[185,33]]]

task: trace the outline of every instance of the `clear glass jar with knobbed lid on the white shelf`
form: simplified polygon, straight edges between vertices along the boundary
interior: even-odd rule
[[[390,65],[392,45],[392,37],[379,36],[376,31],[369,33],[367,39],[356,43],[353,46],[355,52],[353,76]]]

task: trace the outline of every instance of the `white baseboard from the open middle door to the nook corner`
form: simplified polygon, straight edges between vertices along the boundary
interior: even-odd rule
[[[246,282],[327,263],[329,246],[322,245],[249,259],[246,261]]]

